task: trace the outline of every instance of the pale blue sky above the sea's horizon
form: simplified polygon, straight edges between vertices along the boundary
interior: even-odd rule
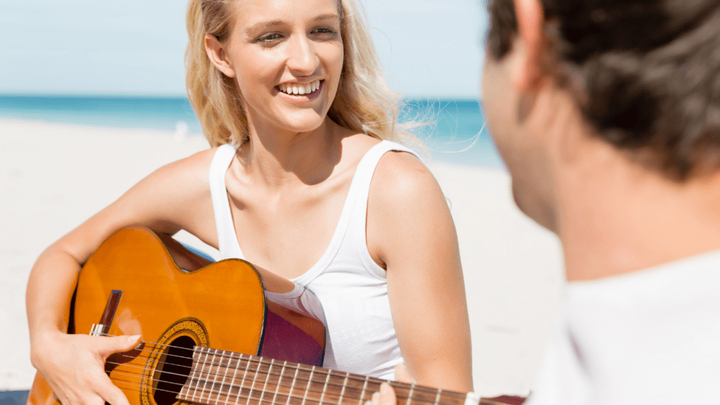
[[[364,0],[390,86],[478,97],[483,0]],[[0,0],[0,94],[184,95],[184,0]]]

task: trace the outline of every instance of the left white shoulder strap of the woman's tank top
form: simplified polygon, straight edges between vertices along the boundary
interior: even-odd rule
[[[210,164],[210,196],[212,197],[212,209],[215,212],[215,226],[217,227],[217,247],[220,257],[227,259],[235,257],[243,259],[235,239],[235,226],[233,225],[233,214],[230,213],[228,203],[228,189],[225,187],[225,173],[233,162],[237,148],[226,143],[215,151],[215,156]]]

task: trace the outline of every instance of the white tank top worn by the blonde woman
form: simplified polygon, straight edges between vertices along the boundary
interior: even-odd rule
[[[210,165],[210,192],[222,259],[244,259],[225,188],[225,172],[235,151],[234,146],[220,146]],[[390,141],[370,148],[355,170],[340,221],[323,257],[305,274],[292,279],[295,289],[290,293],[266,292],[266,295],[318,319],[322,319],[324,311],[328,339],[323,367],[393,379],[395,365],[402,362],[402,355],[392,326],[387,277],[385,270],[370,257],[365,236],[370,182],[378,161],[387,151],[406,151],[417,156]],[[315,297],[320,299],[322,309],[315,304]]]

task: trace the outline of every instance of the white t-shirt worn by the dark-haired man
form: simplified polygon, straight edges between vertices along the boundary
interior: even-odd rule
[[[720,404],[720,252],[566,292],[527,405]]]

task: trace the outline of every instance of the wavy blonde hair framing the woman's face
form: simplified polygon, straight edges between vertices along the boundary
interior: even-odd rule
[[[220,42],[233,29],[233,4],[240,0],[190,0],[186,25],[185,85],[202,131],[211,146],[248,142],[248,120],[235,82],[210,62],[205,35]],[[412,124],[398,124],[400,95],[385,83],[364,12],[354,0],[337,0],[343,38],[343,74],[328,117],[345,128],[373,138],[417,142]]]

